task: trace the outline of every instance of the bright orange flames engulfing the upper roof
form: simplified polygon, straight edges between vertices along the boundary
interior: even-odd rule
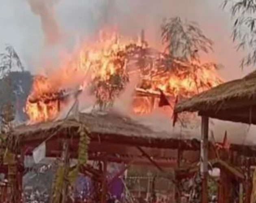
[[[175,98],[191,97],[221,83],[211,63],[181,62],[140,42],[124,41],[118,35],[102,35],[93,45],[82,46],[71,59],[63,60],[61,71],[48,78],[34,78],[25,112],[30,123],[53,120],[65,105],[67,89],[87,87],[96,97],[96,106],[111,106],[129,81],[130,73],[138,73],[137,94],[133,102],[136,114],[148,114],[156,106],[159,90],[170,103]],[[61,72],[61,75],[59,74]],[[143,93],[144,92],[144,93]],[[142,95],[141,95],[142,93]]]

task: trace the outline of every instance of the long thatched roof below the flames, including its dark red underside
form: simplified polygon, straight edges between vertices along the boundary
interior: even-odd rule
[[[148,155],[161,166],[177,165],[177,149],[187,150],[183,154],[182,163],[191,164],[199,159],[200,142],[198,140],[179,140],[178,135],[166,132],[155,132],[150,127],[119,114],[80,113],[79,120],[63,119],[34,125],[15,127],[13,136],[19,140],[22,151],[32,155],[33,149],[46,143],[46,156],[59,157],[62,151],[62,140],[69,140],[72,158],[77,158],[80,132],[83,124],[88,130],[89,159],[107,159],[110,162],[127,162],[147,164],[141,151],[142,147]],[[193,153],[191,153],[193,152]]]

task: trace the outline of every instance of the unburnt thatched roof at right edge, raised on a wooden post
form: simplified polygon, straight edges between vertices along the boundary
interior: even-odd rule
[[[184,111],[226,121],[256,124],[256,71],[179,102],[175,113]]]

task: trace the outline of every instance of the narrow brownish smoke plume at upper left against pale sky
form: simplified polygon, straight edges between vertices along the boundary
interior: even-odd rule
[[[46,43],[58,43],[61,39],[61,32],[53,12],[56,0],[28,0],[28,3],[31,11],[40,16]]]

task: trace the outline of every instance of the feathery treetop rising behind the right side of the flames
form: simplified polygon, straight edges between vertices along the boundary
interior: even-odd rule
[[[208,39],[195,22],[180,17],[164,19],[161,25],[162,42],[169,55],[183,60],[200,60],[199,52],[212,51],[213,41]]]

